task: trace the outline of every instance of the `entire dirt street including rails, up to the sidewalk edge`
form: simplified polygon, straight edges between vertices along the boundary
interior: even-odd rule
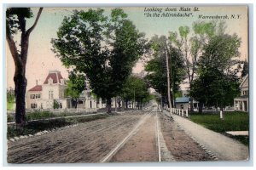
[[[175,122],[152,108],[79,123],[8,147],[9,163],[211,160]]]

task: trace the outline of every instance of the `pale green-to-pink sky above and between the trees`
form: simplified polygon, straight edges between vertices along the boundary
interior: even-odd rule
[[[160,12],[158,9],[162,8]],[[169,31],[178,31],[179,26],[189,26],[191,28],[195,21],[210,21],[207,19],[199,19],[199,15],[219,16],[227,15],[228,20],[224,20],[226,23],[226,32],[229,34],[236,33],[238,37],[241,37],[241,60],[247,59],[247,7],[246,6],[216,6],[216,7],[203,7],[198,6],[198,11],[194,11],[195,6],[190,7],[190,11],[178,11],[170,12],[172,14],[190,14],[189,17],[153,17],[154,12],[162,16],[167,7],[125,7],[123,8],[125,13],[128,14],[128,18],[132,20],[137,29],[146,34],[146,37],[150,38],[154,35],[168,35]],[[44,82],[47,77],[48,71],[58,70],[61,71],[61,75],[67,78],[67,68],[65,68],[60,59],[55,57],[55,54],[51,51],[52,45],[50,40],[56,37],[56,31],[61,26],[61,21],[64,16],[73,14],[73,9],[88,10],[88,8],[44,8],[43,12],[38,20],[38,25],[32,31],[30,37],[30,44],[28,50],[27,64],[26,64],[26,78],[27,78],[27,90],[36,85],[36,80],[39,84]],[[110,14],[111,8],[103,8],[106,14]],[[146,12],[145,12],[146,11]],[[32,8],[34,17],[27,20],[27,28],[32,26],[33,21],[38,13],[38,8]],[[152,17],[147,17],[147,13]],[[231,19],[231,15],[234,14],[236,19]],[[238,18],[239,15],[239,18]],[[19,41],[20,35],[16,35],[15,39]],[[15,65],[11,54],[9,53],[9,47],[6,45],[6,60],[7,60],[7,88],[14,87],[13,77],[15,74]],[[139,61],[135,65],[133,71],[139,72],[143,70],[143,63]]]

